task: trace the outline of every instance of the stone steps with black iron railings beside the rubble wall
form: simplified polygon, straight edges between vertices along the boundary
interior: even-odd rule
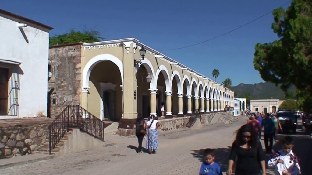
[[[76,128],[70,128],[69,132],[65,133],[60,142],[57,143],[54,149],[51,150],[51,155],[55,155],[60,152],[60,149],[64,146],[64,142],[68,140],[68,136],[72,134],[74,129]],[[37,151],[34,151],[33,154],[49,154],[49,140],[46,139],[45,142],[41,144],[41,147]]]

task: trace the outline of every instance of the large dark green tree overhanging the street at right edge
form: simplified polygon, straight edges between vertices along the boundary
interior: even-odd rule
[[[312,1],[293,0],[285,11],[273,11],[272,29],[279,37],[274,42],[255,46],[254,67],[265,81],[297,88],[301,109],[312,108]]]

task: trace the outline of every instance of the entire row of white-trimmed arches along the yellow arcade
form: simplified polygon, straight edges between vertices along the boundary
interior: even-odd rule
[[[88,61],[83,69],[82,89],[88,93],[88,110],[102,120],[119,120],[122,116],[122,87],[124,81],[124,65],[120,59],[110,54],[100,54]],[[148,117],[151,114],[160,116],[161,107],[165,104],[166,115],[191,114],[195,109],[201,112],[221,111],[230,106],[233,96],[230,92],[222,92],[209,82],[199,81],[197,76],[181,76],[160,65],[155,72],[148,59],[136,68],[135,100],[137,113]],[[146,83],[147,74],[152,76]],[[100,98],[100,103],[96,100]]]

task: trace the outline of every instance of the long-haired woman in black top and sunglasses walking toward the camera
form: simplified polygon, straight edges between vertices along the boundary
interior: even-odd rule
[[[265,155],[252,125],[242,125],[237,131],[229,157],[227,175],[232,175],[236,157],[235,175],[266,175]]]

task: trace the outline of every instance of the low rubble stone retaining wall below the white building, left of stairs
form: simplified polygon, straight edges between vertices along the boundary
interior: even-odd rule
[[[48,124],[0,126],[0,158],[32,154],[49,139]]]

